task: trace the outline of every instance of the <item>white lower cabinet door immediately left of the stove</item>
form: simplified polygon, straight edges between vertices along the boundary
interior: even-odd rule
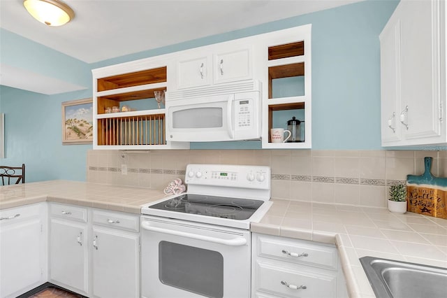
[[[138,234],[93,227],[93,294],[104,298],[140,297]]]

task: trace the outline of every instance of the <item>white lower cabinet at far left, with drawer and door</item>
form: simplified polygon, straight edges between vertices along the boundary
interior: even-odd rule
[[[0,297],[17,297],[47,279],[46,204],[0,211]]]

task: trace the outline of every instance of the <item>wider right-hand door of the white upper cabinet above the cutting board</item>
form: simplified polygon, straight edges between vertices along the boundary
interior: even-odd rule
[[[439,1],[400,5],[402,104],[397,112],[405,123],[404,139],[440,136]]]

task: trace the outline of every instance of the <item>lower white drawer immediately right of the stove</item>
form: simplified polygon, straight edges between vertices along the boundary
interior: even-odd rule
[[[256,271],[256,291],[300,298],[330,298],[337,293],[337,276],[331,271],[304,271],[263,262],[256,263]]]

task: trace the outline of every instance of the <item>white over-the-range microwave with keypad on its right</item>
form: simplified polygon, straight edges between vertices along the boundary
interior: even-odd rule
[[[166,92],[168,141],[261,138],[261,82],[246,80]]]

